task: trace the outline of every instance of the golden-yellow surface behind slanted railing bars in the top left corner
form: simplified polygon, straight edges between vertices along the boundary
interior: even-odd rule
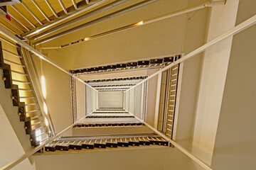
[[[112,1],[23,0],[19,4],[6,6],[8,16],[1,15],[0,24],[11,33],[21,35],[28,40],[38,32],[43,33]]]

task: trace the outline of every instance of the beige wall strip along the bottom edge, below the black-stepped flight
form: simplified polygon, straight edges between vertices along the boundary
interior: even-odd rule
[[[65,152],[51,154],[47,152],[43,156],[33,156],[36,160],[37,170],[81,169],[82,167],[91,170],[186,169],[184,162],[176,161],[177,157],[184,158],[186,156],[177,149],[159,146],[129,147],[125,149],[107,148],[97,149],[97,151],[95,151],[95,149],[92,151],[82,150],[70,154],[65,154]],[[54,162],[54,164],[50,164],[49,166],[48,162]]]

